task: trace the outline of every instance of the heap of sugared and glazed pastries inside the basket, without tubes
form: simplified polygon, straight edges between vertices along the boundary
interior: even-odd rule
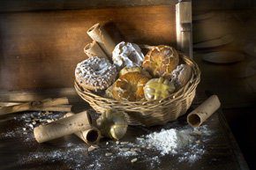
[[[120,42],[111,60],[92,56],[75,70],[77,83],[94,92],[104,91],[121,101],[161,100],[177,92],[191,78],[191,67],[175,48],[159,45],[143,55],[137,44]]]

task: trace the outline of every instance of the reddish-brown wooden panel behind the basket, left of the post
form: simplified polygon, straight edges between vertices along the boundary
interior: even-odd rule
[[[117,42],[176,45],[175,5],[0,14],[0,89],[72,86],[96,22]]]

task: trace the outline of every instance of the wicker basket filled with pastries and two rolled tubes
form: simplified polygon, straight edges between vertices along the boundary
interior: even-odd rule
[[[98,113],[114,108],[129,125],[174,121],[191,106],[200,70],[173,47],[114,42],[96,24],[87,34],[88,59],[78,63],[75,89]]]

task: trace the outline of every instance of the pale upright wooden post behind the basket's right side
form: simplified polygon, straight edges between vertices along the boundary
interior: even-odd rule
[[[177,49],[192,59],[192,2],[176,4]]]

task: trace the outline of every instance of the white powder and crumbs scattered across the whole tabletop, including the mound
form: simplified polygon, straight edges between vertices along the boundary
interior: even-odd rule
[[[36,144],[34,141],[33,129],[29,126],[35,120],[34,127],[47,122],[47,120],[56,120],[62,117],[64,113],[46,114],[38,112],[29,112],[19,115],[13,119],[15,122],[23,124],[22,127],[15,129],[6,129],[1,132],[1,138],[18,138],[26,141],[26,146]],[[30,120],[29,122],[26,122]],[[115,141],[109,140],[100,145],[100,149],[93,152],[87,152],[87,144],[66,142],[56,147],[39,147],[32,152],[28,152],[26,157],[19,155],[19,165],[34,164],[36,162],[63,162],[70,169],[102,169],[112,167],[115,161],[124,159],[131,161],[138,159],[137,163],[143,163],[147,169],[155,169],[162,165],[162,159],[176,157],[177,163],[194,163],[205,154],[204,142],[213,135],[213,129],[208,129],[207,125],[199,128],[191,128],[188,125],[179,128],[171,128],[176,122],[169,123],[160,131],[152,132],[149,129],[147,135],[137,137],[134,141]],[[26,128],[27,134],[24,134]],[[197,133],[195,133],[197,131]],[[161,140],[159,140],[161,139]],[[200,143],[197,143],[200,141]],[[104,145],[104,146],[103,146]],[[120,148],[129,148],[129,151],[120,151]],[[132,152],[132,149],[137,149]],[[149,151],[149,152],[148,152]],[[112,156],[106,157],[105,153],[111,152]],[[181,154],[182,153],[182,154]],[[87,161],[85,161],[87,159]],[[107,164],[109,162],[110,164]],[[110,166],[109,166],[110,165]]]

